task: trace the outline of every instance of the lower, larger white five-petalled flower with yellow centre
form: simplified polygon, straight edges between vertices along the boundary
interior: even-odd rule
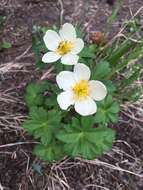
[[[66,110],[74,105],[75,111],[82,116],[96,113],[95,101],[100,101],[107,95],[105,85],[97,80],[90,80],[90,69],[82,63],[74,66],[74,71],[62,71],[56,81],[64,92],[57,96],[61,109]]]

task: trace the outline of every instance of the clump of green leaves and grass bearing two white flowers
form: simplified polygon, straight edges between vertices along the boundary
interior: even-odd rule
[[[109,126],[118,122],[119,105],[141,95],[133,83],[143,66],[133,60],[141,60],[142,43],[128,38],[111,45],[105,39],[86,44],[83,36],[69,23],[59,31],[36,28],[33,33],[37,67],[51,63],[56,74],[46,79],[48,70],[44,80],[27,86],[25,95],[29,119],[23,127],[39,140],[34,153],[43,160],[67,155],[94,159],[110,150],[115,131]]]

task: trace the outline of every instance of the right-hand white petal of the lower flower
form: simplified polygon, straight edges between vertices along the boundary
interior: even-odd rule
[[[107,95],[107,89],[106,86],[97,80],[91,80],[89,81],[90,90],[91,90],[91,97],[96,100],[100,101],[105,98]]]

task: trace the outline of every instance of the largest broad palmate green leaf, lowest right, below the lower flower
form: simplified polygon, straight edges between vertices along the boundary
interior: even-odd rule
[[[85,159],[94,159],[112,147],[114,131],[109,128],[93,128],[91,117],[81,119],[75,126],[74,119],[71,125],[65,126],[57,134],[58,140],[64,143],[64,151],[71,157],[81,156]],[[74,124],[73,124],[74,123]],[[89,124],[89,125],[88,125]]]

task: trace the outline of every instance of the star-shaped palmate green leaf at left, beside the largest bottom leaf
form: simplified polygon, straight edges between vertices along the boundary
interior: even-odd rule
[[[46,145],[49,144],[54,137],[60,120],[61,113],[58,111],[46,111],[41,107],[33,107],[30,112],[30,119],[23,123],[23,128],[36,139],[40,138],[41,142]]]

